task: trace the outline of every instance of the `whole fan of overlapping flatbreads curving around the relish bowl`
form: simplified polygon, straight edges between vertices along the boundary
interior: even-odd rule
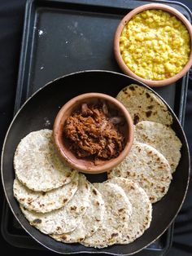
[[[89,183],[61,161],[52,130],[31,132],[16,148],[14,196],[29,223],[56,241],[129,244],[150,227],[151,203],[168,192],[181,157],[172,115],[142,86],[127,86],[117,99],[133,117],[135,139],[104,183]]]

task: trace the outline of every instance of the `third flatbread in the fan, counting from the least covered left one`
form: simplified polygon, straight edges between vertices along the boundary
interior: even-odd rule
[[[72,200],[59,210],[40,214],[26,210],[22,205],[20,209],[29,223],[45,234],[63,234],[72,232],[81,222],[85,210],[89,206],[89,183],[84,175],[79,177],[79,185]]]

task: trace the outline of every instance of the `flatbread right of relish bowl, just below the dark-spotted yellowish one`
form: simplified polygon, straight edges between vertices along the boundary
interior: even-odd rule
[[[176,170],[182,144],[172,128],[154,121],[141,121],[135,126],[135,140],[156,148],[168,160],[172,173]]]

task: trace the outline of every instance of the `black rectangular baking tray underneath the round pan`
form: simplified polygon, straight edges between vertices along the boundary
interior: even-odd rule
[[[154,1],[28,1],[24,18],[15,113],[33,92],[64,74],[86,69],[121,72],[112,50],[117,24],[133,8],[150,2]],[[175,7],[191,22],[190,10],[183,4],[168,1],[155,2]],[[189,73],[176,85],[155,89],[177,114],[182,126],[185,121],[188,79]],[[93,90],[91,84],[90,90]],[[1,228],[2,236],[11,245],[28,249],[44,249],[20,227],[6,201],[3,206]],[[166,254],[172,245],[172,229],[173,224],[155,243],[137,255]]]

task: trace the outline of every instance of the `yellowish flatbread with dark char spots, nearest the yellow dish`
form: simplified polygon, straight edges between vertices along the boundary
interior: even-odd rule
[[[134,124],[142,120],[157,121],[168,126],[172,124],[172,115],[164,102],[143,86],[126,86],[116,99],[127,108]]]

